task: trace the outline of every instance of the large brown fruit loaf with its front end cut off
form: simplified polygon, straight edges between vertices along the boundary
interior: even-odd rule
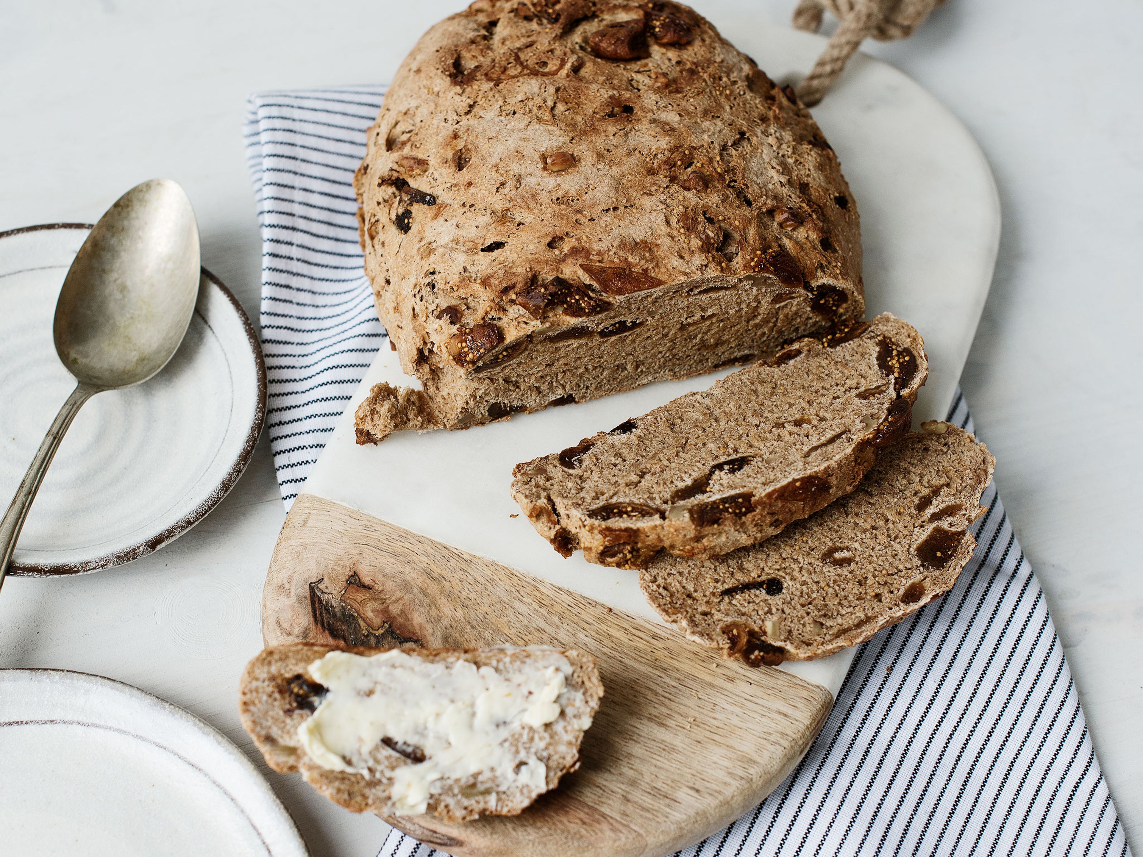
[[[678,3],[481,0],[442,21],[354,187],[378,314],[423,386],[375,389],[359,442],[698,375],[864,313],[832,149]]]

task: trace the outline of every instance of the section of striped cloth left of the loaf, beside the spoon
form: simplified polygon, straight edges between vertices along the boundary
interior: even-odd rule
[[[287,510],[385,341],[361,267],[352,186],[384,91],[344,87],[249,102],[266,431]]]

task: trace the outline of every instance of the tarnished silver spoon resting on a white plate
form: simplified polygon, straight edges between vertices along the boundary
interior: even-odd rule
[[[64,432],[88,399],[141,384],[178,350],[199,293],[199,227],[169,178],[133,187],[95,224],[64,279],[56,353],[79,384],[59,409],[0,521],[0,585]]]

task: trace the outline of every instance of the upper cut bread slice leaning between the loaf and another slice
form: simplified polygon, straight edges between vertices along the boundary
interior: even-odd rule
[[[769,538],[848,494],[909,431],[928,365],[886,313],[756,363],[512,471],[512,496],[570,555],[641,568]]]

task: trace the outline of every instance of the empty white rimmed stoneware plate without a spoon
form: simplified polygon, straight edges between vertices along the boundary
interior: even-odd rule
[[[0,670],[0,758],[5,854],[307,854],[238,747],[111,679]]]

